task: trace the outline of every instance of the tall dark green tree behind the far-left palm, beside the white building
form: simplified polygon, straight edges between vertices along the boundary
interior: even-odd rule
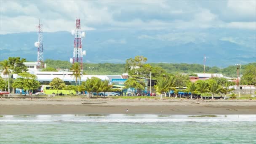
[[[26,62],[26,59],[21,59],[20,57],[9,57],[8,61],[14,74],[28,71],[27,66],[25,66],[24,64],[24,62]]]

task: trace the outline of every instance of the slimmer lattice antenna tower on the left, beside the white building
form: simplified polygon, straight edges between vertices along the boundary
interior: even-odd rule
[[[36,28],[38,28],[38,41],[35,42],[35,47],[37,47],[37,69],[43,69],[43,24],[40,24],[40,19]]]

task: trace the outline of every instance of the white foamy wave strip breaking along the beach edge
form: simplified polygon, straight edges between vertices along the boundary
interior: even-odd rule
[[[72,123],[176,123],[176,122],[256,122],[256,115],[217,115],[217,117],[147,117],[147,116],[106,116],[106,117],[1,117],[1,122],[72,122]]]

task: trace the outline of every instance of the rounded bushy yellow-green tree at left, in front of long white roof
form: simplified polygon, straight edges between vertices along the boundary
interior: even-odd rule
[[[18,74],[19,77],[13,81],[13,88],[21,88],[24,91],[36,90],[40,87],[40,83],[37,81],[37,77],[28,72],[22,72]],[[26,94],[25,94],[26,96]]]

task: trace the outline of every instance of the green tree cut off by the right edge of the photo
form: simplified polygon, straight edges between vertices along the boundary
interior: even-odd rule
[[[241,83],[243,85],[256,85],[256,66],[251,64],[245,67]]]

